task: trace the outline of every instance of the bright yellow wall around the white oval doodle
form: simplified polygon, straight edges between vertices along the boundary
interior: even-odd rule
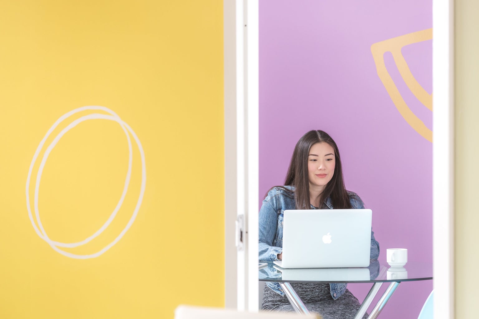
[[[1,2],[0,318],[172,318],[180,303],[224,305],[222,16],[221,0]],[[147,179],[123,238],[96,258],[76,259],[35,233],[25,184],[47,130],[87,105],[113,110],[137,134]],[[63,121],[47,143],[94,112]],[[96,253],[127,224],[141,188],[132,144],[117,217],[91,242],[64,251]],[[32,207],[45,150],[33,169]],[[49,238],[79,242],[98,230],[121,196],[127,166],[118,123],[89,120],[68,131],[39,187]]]

